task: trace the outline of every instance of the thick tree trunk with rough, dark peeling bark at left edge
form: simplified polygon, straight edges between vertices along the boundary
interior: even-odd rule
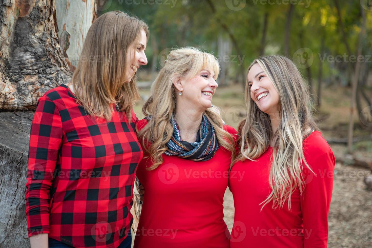
[[[0,20],[0,109],[35,109],[40,96],[71,76],[54,1],[3,0]]]

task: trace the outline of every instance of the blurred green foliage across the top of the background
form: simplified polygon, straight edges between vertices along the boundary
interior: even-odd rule
[[[234,0],[232,0],[234,1]],[[136,2],[137,4],[134,4]],[[289,4],[286,0],[247,0],[243,9],[231,10],[227,1],[207,0],[112,0],[110,10],[123,10],[145,20],[151,36],[148,44],[148,61],[151,65],[154,47],[151,39],[156,39],[158,52],[165,48],[198,46],[218,55],[217,41],[220,36],[230,39],[236,45],[232,55],[244,56],[243,67],[247,68],[254,58],[259,56],[262,46],[264,16],[267,13],[267,31],[264,42],[264,54],[284,54],[285,30]],[[339,17],[334,0],[295,1],[290,28],[289,57],[299,48],[310,48],[314,61],[310,72],[317,75],[323,66],[323,77],[344,75],[347,61],[331,65],[327,56],[348,55],[343,41]],[[153,3],[153,4],[150,4]],[[161,4],[157,4],[161,3]],[[241,4],[244,1],[241,1]],[[265,4],[266,3],[266,4]],[[269,4],[274,3],[274,4]],[[300,4],[302,3],[302,4]],[[213,6],[211,6],[211,4]],[[356,54],[358,35],[361,26],[360,1],[338,0],[341,22],[346,33],[352,54]],[[363,42],[365,55],[371,54],[372,11],[365,10],[367,17],[367,39]],[[324,51],[322,52],[322,41]],[[325,60],[321,62],[321,60]],[[230,69],[237,70],[238,65],[231,64]],[[235,68],[235,69],[234,69]],[[304,69],[304,74],[305,74]]]

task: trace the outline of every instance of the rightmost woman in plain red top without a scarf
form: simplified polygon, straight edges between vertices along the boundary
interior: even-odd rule
[[[230,178],[231,247],[327,247],[335,159],[317,131],[307,84],[290,59],[263,56],[248,68],[245,99],[230,174],[246,176]]]

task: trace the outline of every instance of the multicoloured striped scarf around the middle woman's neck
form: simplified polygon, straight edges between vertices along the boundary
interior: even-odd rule
[[[176,155],[192,161],[207,161],[217,152],[219,144],[216,133],[205,115],[202,117],[199,132],[196,134],[196,141],[192,143],[182,141],[180,128],[173,117],[171,123],[173,124],[173,135],[167,143],[166,155]]]

